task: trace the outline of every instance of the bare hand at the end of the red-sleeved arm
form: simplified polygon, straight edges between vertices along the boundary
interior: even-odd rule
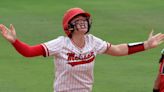
[[[12,24],[10,24],[10,28],[8,29],[5,25],[0,24],[0,31],[2,36],[7,39],[9,42],[14,43],[16,40],[16,32],[15,28]]]

